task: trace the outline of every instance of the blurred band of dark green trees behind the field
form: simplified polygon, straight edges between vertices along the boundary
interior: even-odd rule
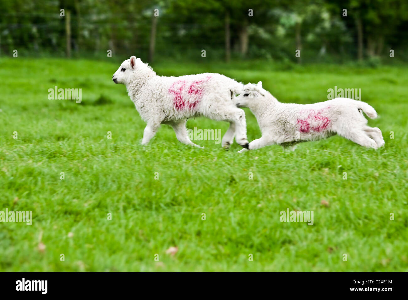
[[[406,0],[0,0],[0,7],[2,55],[106,56],[110,49],[151,62],[202,60],[205,49],[207,59],[310,62],[408,47]]]

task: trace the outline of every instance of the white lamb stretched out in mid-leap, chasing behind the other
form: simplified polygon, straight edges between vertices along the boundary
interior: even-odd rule
[[[320,140],[336,133],[353,142],[377,149],[384,146],[381,130],[367,126],[362,111],[371,119],[377,113],[365,102],[335,98],[314,104],[281,103],[258,84],[246,84],[235,98],[237,107],[249,107],[257,118],[262,137],[249,143],[249,150],[279,144]],[[239,152],[247,151],[242,149]]]

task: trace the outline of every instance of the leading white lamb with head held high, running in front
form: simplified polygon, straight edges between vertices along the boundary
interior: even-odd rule
[[[229,148],[235,140],[248,147],[245,112],[235,106],[236,94],[242,92],[242,83],[217,73],[202,73],[180,77],[157,76],[140,58],[131,56],[113,74],[115,83],[126,85],[128,95],[144,120],[142,144],[147,144],[160,124],[173,127],[177,140],[191,142],[186,120],[206,116],[213,120],[228,121],[230,127],[222,138],[222,147]]]

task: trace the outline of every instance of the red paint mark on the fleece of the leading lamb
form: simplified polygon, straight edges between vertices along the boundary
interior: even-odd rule
[[[202,87],[202,83],[208,82],[210,79],[211,76],[207,76],[202,80],[193,81],[188,88],[186,88],[186,80],[173,82],[169,88],[169,93],[174,96],[174,108],[176,110],[182,110],[184,108],[189,110],[195,109],[203,96],[204,87]],[[187,95],[185,95],[186,93]]]

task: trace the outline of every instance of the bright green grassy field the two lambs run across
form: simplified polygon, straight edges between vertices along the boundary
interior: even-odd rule
[[[361,88],[386,142],[375,151],[335,136],[239,154],[237,144],[188,147],[167,125],[142,147],[145,124],[111,81],[119,64],[0,60],[0,210],[33,211],[31,226],[0,223],[0,271],[408,271],[408,67],[153,65],[262,80],[282,102]],[[55,85],[81,88],[82,102],[49,100]],[[246,116],[248,140],[259,138]],[[280,222],[286,209],[313,211],[314,224]]]

